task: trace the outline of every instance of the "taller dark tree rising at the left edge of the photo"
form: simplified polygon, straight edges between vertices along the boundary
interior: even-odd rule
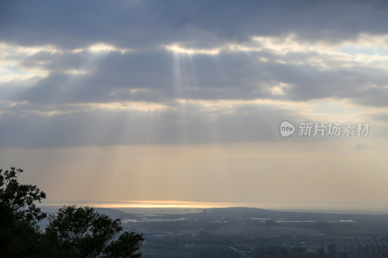
[[[40,242],[38,222],[46,217],[35,201],[46,194],[31,184],[20,184],[22,169],[0,169],[0,255],[35,257]]]

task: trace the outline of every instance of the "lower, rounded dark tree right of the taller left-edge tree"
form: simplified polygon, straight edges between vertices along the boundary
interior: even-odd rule
[[[140,257],[142,235],[122,230],[120,219],[72,205],[49,215],[46,234],[67,257]]]

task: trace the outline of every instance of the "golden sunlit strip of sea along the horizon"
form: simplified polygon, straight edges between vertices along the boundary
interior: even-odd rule
[[[318,212],[351,214],[388,214],[388,205],[381,203],[238,203],[238,202],[195,202],[177,200],[43,200],[39,206],[62,207],[76,204],[95,208],[112,208],[124,212],[161,213],[201,212],[203,209],[226,207],[250,207],[282,212]]]

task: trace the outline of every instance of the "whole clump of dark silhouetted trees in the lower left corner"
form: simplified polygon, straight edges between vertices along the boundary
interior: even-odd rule
[[[38,222],[47,214],[36,207],[46,198],[36,185],[20,184],[22,169],[0,169],[0,257],[141,257],[141,234],[122,231],[121,220],[91,207],[64,206],[49,216],[46,233]]]

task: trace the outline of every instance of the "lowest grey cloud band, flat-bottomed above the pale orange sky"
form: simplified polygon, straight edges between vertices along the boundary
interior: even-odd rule
[[[133,144],[278,141],[278,123],[291,110],[263,105],[204,110],[194,104],[164,110],[64,107],[57,114],[26,104],[0,116],[0,147],[53,148]],[[263,112],[263,110],[265,110]]]

